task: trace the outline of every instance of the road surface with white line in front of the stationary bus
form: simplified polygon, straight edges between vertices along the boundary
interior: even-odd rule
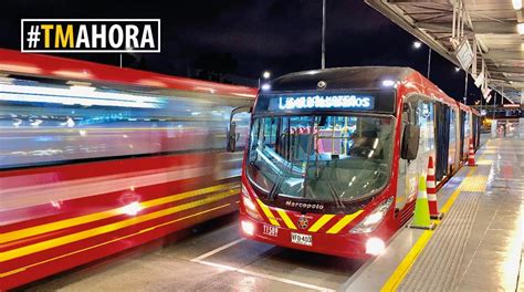
[[[24,290],[331,291],[364,263],[242,240],[237,220],[224,216]]]

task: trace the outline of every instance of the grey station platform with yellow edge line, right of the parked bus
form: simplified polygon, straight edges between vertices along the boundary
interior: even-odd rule
[[[524,132],[489,139],[439,191],[436,230],[406,228],[345,291],[524,291]]]

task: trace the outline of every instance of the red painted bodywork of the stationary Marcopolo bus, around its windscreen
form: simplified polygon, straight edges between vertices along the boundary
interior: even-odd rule
[[[240,220],[242,221],[249,221],[254,223],[254,232],[253,236],[249,236],[245,232],[242,232],[243,237],[268,242],[268,243],[273,243],[282,247],[287,247],[287,248],[293,248],[293,249],[300,249],[300,250],[305,250],[305,251],[311,251],[311,252],[319,252],[319,253],[326,253],[326,254],[333,254],[333,255],[338,255],[338,257],[346,257],[346,258],[369,258],[369,254],[366,254],[366,241],[369,238],[379,238],[384,240],[386,243],[390,240],[390,238],[401,228],[406,221],[410,219],[412,216],[412,211],[415,209],[415,200],[409,201],[402,210],[398,215],[395,215],[394,210],[395,208],[390,208],[387,215],[385,216],[384,220],[380,222],[380,225],[375,229],[374,231],[369,233],[350,233],[349,230],[352,230],[353,227],[357,226],[367,215],[369,215],[374,209],[388,198],[396,198],[396,192],[397,192],[397,181],[398,181],[398,167],[399,167],[399,160],[400,160],[400,137],[401,137],[401,121],[402,121],[402,103],[404,101],[409,97],[412,94],[422,94],[427,96],[432,96],[440,101],[441,103],[444,103],[449,105],[451,108],[457,108],[460,106],[461,108],[470,108],[463,104],[458,105],[458,102],[455,100],[451,98],[448,96],[444,92],[442,92],[439,87],[437,87],[434,84],[432,84],[430,81],[428,81],[425,76],[422,76],[420,73],[412,71],[411,73],[408,74],[404,80],[398,81],[397,87],[396,87],[396,93],[397,93],[397,107],[396,107],[396,117],[397,117],[397,124],[395,127],[395,138],[394,138],[394,154],[392,154],[392,164],[391,164],[391,175],[389,178],[389,182],[387,187],[378,194],[374,200],[371,200],[364,209],[361,209],[361,212],[354,218],[348,225],[346,225],[340,231],[337,233],[326,233],[326,230],[328,230],[331,227],[336,225],[337,222],[340,221],[342,218],[344,218],[345,213],[337,213],[333,215],[334,217],[327,221],[316,232],[310,232],[308,230],[301,230],[297,228],[296,230],[290,229],[286,227],[285,223],[283,223],[282,216],[279,216],[279,210],[277,208],[266,206],[271,212],[274,216],[274,219],[279,222],[279,236],[277,237],[272,237],[263,233],[263,228],[265,226],[271,226],[272,222],[269,220],[268,216],[264,215],[264,211],[260,208],[259,205],[258,207],[258,212],[262,217],[263,220],[255,220],[252,217],[249,216],[247,212],[247,207],[243,205],[243,202],[240,204]],[[256,195],[254,192],[254,189],[251,187],[251,184],[249,182],[249,179],[245,174],[245,159],[247,159],[247,153],[244,154],[244,164],[243,164],[243,169],[242,169],[242,184],[243,187],[247,189],[250,198],[252,200],[256,200]],[[439,184],[438,188],[442,186],[442,182]],[[395,201],[394,204],[395,205]],[[297,219],[302,216],[308,217],[310,220],[310,226],[314,225],[322,216],[323,213],[301,213],[301,212],[295,212],[291,210],[280,210],[280,212],[284,211],[286,216],[291,219],[291,221],[295,222],[295,227],[297,225]],[[273,225],[274,226],[274,225]],[[242,230],[241,230],[242,231]],[[304,233],[304,234],[311,234],[313,236],[313,246],[302,246],[302,244],[295,244],[292,243],[290,238],[291,238],[291,232],[298,232],[298,233]]]

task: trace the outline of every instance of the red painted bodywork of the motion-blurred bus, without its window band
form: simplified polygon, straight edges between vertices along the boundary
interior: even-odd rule
[[[254,100],[256,93],[243,86],[10,50],[0,50],[0,72],[135,90],[211,93],[217,98]],[[172,139],[168,133],[159,135],[164,135],[160,142]],[[188,142],[205,140],[197,139],[195,131],[185,135]],[[240,168],[233,154],[202,150],[0,170],[0,290],[238,210]]]

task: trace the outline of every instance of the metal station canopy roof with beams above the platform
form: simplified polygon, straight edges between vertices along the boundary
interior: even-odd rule
[[[485,93],[492,88],[514,103],[524,103],[522,0],[366,2],[457,66],[467,67]]]

